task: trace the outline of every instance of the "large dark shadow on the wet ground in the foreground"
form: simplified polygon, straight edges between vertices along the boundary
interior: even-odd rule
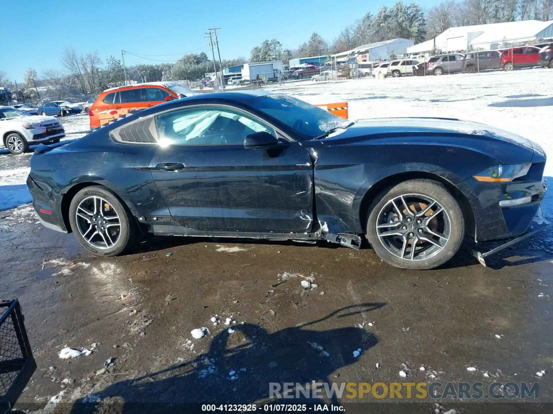
[[[71,412],[165,413],[175,409],[181,412],[179,410],[186,408],[189,412],[196,412],[187,404],[267,401],[270,397],[269,383],[300,383],[304,386],[312,381],[331,383],[335,380],[331,374],[357,362],[353,351],[360,348],[361,354],[367,353],[378,343],[378,339],[357,327],[316,331],[307,329],[307,326],[331,317],[342,319],[365,314],[383,306],[385,303],[382,302],[351,305],[319,320],[274,333],[251,323],[233,325],[236,332],[229,333],[225,329],[218,333],[209,351],[194,360],[115,383],[101,392],[101,402],[86,404],[90,402],[90,397],[85,397],[75,402]],[[231,339],[234,343],[239,339],[242,341],[228,347]],[[294,404],[324,402],[301,393],[297,399],[280,402],[290,401]],[[327,400],[330,401],[338,404],[337,399]]]

